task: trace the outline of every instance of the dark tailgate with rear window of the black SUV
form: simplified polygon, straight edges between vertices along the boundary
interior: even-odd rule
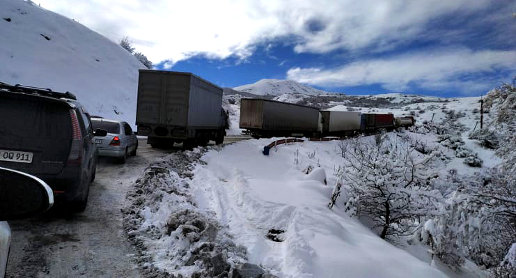
[[[22,93],[0,92],[0,149],[33,153],[33,162],[2,162],[29,173],[57,173],[72,144],[70,106]],[[42,167],[42,163],[53,166]],[[63,163],[63,164],[61,164]]]

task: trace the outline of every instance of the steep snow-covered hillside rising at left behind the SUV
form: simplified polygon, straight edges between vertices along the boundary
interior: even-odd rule
[[[0,82],[70,91],[90,114],[136,119],[134,56],[32,1],[0,0]]]

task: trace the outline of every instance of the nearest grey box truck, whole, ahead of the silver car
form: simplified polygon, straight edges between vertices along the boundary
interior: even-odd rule
[[[229,125],[222,88],[190,72],[139,70],[136,125],[153,148],[222,144]]]

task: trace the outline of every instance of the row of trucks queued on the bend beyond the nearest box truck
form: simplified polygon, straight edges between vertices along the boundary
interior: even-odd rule
[[[240,128],[260,137],[346,137],[414,125],[413,117],[363,114],[357,111],[319,110],[274,100],[242,98]]]

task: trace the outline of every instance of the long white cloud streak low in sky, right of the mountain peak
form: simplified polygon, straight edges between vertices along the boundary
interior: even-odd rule
[[[501,81],[486,79],[483,74],[497,70],[516,74],[515,61],[516,51],[441,49],[358,61],[338,68],[290,68],[287,78],[327,87],[382,84],[389,90],[406,91],[415,85],[478,93]]]

